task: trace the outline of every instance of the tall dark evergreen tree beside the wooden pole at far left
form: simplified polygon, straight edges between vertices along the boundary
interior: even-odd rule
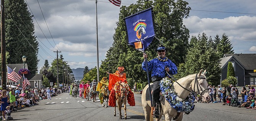
[[[25,55],[28,69],[31,74],[36,74],[39,44],[34,35],[32,15],[24,0],[5,1],[5,28],[6,52],[10,55],[7,62],[22,63],[21,57]]]

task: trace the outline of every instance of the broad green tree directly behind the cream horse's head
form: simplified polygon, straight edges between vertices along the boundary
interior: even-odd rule
[[[185,74],[196,74],[200,69],[206,69],[207,82],[217,85],[220,80],[220,58],[211,47],[211,42],[205,33],[193,36],[193,45],[188,49],[185,63]],[[184,70],[184,69],[183,69]]]

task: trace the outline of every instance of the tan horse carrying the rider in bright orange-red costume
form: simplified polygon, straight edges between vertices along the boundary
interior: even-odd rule
[[[126,100],[127,100],[127,94],[128,94],[128,91],[127,91],[127,83],[125,82],[121,82],[119,83],[120,84],[120,88],[117,91],[115,91],[115,97],[116,97],[116,101],[118,103],[118,109],[119,109],[119,119],[122,119],[122,112],[121,112],[121,108],[122,108],[122,104],[123,104],[123,107],[125,109],[125,119],[127,119],[126,117]],[[118,85],[115,85],[115,87],[118,86]],[[116,116],[116,106],[115,106],[115,112],[114,112],[114,116]]]

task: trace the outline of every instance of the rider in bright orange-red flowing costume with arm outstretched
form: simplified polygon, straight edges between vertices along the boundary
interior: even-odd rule
[[[115,97],[115,88],[114,88],[115,84],[120,82],[127,83],[126,73],[123,72],[125,68],[118,67],[117,69],[118,71],[116,71],[114,74],[110,74],[109,72],[107,72],[107,74],[109,74],[109,90],[111,90],[109,94],[109,106],[111,107],[116,106],[116,97]],[[127,102],[130,106],[135,106],[134,94],[130,90],[130,87],[128,92],[129,93],[127,95]]]

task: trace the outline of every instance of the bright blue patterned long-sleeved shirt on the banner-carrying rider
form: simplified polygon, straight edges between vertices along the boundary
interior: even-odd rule
[[[163,58],[163,59],[165,59],[165,58]],[[170,59],[168,59],[165,62],[162,62],[162,61],[158,60],[157,58],[154,58],[151,61],[147,62],[148,71],[152,71],[151,77],[157,76],[157,77],[164,78],[165,77],[165,69],[164,69],[165,66],[167,66],[170,69],[169,74],[172,74],[172,75],[177,74],[177,70],[178,70],[177,66],[174,63],[172,63],[172,61]],[[142,63],[142,69],[144,71],[147,71],[145,61],[143,61],[143,63]]]

